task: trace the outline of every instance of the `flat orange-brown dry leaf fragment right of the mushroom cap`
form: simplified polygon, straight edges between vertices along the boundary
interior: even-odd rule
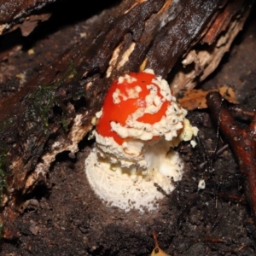
[[[218,91],[228,102],[238,104],[235,91],[227,85],[213,90],[187,90],[184,92],[183,97],[179,98],[177,101],[187,110],[207,108],[206,96],[210,91]]]

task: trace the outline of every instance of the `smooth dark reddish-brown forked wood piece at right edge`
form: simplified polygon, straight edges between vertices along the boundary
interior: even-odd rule
[[[207,106],[212,112],[212,119],[218,124],[219,131],[230,144],[245,177],[247,200],[256,223],[256,112],[251,123],[241,128],[218,92],[207,95]]]

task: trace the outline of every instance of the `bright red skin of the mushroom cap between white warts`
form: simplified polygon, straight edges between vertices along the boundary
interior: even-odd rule
[[[105,101],[102,106],[102,116],[96,125],[96,131],[103,137],[113,137],[113,140],[121,145],[125,139],[112,130],[110,123],[116,122],[119,125],[126,125],[126,120],[135,113],[139,108],[146,108],[146,96],[150,94],[150,87],[153,84],[157,88],[157,96],[162,103],[156,113],[144,113],[137,121],[153,125],[159,122],[166,115],[166,110],[171,104],[160,94],[160,87],[154,82],[156,76],[152,73],[130,73],[130,77],[123,77],[115,80],[110,86]],[[129,78],[129,79],[127,79]],[[120,83],[119,83],[120,82]],[[138,87],[139,86],[139,87]],[[139,90],[137,90],[139,89]],[[136,96],[131,96],[131,91],[136,91]],[[114,101],[114,93],[119,94],[119,101]],[[129,127],[129,126],[127,126]]]

